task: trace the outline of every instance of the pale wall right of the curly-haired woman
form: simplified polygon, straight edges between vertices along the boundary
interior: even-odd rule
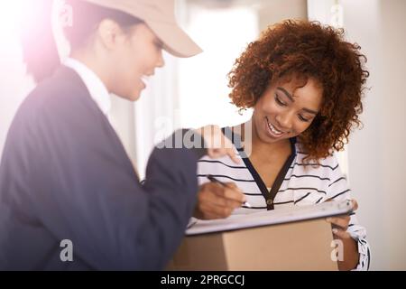
[[[361,45],[371,72],[364,129],[351,135],[347,150],[358,219],[368,232],[371,269],[406,270],[406,1],[309,0],[309,16],[329,23],[330,7],[337,3],[347,39]]]

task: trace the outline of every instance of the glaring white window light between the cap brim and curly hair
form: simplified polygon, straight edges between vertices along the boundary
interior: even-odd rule
[[[245,122],[230,104],[227,73],[249,42],[258,37],[257,12],[249,7],[190,10],[189,33],[203,48],[197,57],[180,61],[180,123],[232,126]]]

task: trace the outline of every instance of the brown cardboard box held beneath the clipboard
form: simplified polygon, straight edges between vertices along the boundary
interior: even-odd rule
[[[332,241],[325,219],[188,236],[167,269],[336,271]]]

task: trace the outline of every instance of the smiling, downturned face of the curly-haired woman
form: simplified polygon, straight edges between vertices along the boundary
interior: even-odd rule
[[[255,135],[264,143],[298,136],[309,128],[322,103],[315,79],[303,86],[298,79],[275,81],[254,106]]]

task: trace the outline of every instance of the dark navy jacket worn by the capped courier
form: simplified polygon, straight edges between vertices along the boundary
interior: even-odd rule
[[[78,74],[19,108],[0,165],[0,270],[156,270],[180,244],[200,149],[155,148],[141,184]],[[73,261],[60,258],[73,245]]]

